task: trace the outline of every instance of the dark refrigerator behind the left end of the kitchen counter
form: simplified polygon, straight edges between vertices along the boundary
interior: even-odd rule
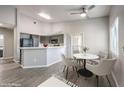
[[[21,38],[20,47],[33,47],[33,39],[32,38]]]

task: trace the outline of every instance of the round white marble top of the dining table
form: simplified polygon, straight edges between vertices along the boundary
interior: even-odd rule
[[[76,59],[97,59],[99,56],[91,53],[78,53],[73,55]]]

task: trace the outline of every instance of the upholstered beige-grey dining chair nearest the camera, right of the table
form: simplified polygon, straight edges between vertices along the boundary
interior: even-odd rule
[[[109,81],[109,78],[107,75],[109,75],[114,67],[114,64],[116,62],[116,59],[102,59],[101,62],[99,62],[96,65],[91,65],[91,64],[87,64],[86,68],[91,71],[92,73],[94,73],[96,75],[97,78],[97,86],[99,84],[99,76],[106,76],[110,86],[111,83]]]

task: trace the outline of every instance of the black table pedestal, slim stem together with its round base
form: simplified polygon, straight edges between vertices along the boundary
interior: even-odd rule
[[[84,68],[78,70],[78,73],[85,77],[91,77],[93,75],[92,72],[86,69],[86,59],[84,59]]]

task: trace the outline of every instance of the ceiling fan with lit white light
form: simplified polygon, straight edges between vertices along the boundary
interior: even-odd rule
[[[88,12],[95,7],[96,7],[95,5],[83,5],[81,8],[71,9],[71,11],[73,12],[71,12],[70,14],[71,15],[80,14],[81,17],[88,17]]]

